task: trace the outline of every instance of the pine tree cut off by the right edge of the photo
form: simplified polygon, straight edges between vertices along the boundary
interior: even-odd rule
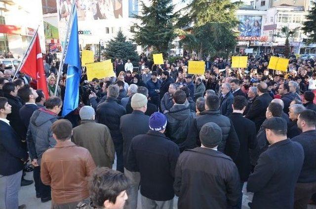
[[[313,8],[305,16],[306,21],[303,23],[302,30],[309,36],[309,43],[316,43],[316,2],[313,2]]]

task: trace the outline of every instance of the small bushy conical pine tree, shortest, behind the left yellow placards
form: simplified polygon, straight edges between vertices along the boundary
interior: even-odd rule
[[[126,40],[126,36],[121,31],[118,35],[108,42],[104,54],[108,59],[115,60],[115,58],[123,59],[123,61],[130,61],[133,65],[138,65],[138,54],[136,52],[136,46],[132,42]]]

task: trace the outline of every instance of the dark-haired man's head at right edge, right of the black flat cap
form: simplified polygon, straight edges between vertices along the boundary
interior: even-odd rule
[[[302,111],[297,118],[297,127],[302,132],[315,130],[316,127],[316,112],[311,109]]]

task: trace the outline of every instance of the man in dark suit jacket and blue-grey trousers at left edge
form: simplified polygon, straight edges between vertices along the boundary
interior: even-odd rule
[[[18,193],[24,162],[29,158],[25,149],[21,147],[21,139],[10,126],[7,115],[11,113],[11,105],[4,97],[0,97],[0,175],[4,179],[4,205],[6,209],[26,209],[26,205],[19,206]]]

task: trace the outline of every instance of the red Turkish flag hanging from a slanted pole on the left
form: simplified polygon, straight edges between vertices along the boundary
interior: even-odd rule
[[[38,89],[43,91],[46,99],[49,97],[38,34],[36,34],[33,43],[31,43],[29,54],[25,58],[25,62],[22,63],[20,71],[37,80]]]

